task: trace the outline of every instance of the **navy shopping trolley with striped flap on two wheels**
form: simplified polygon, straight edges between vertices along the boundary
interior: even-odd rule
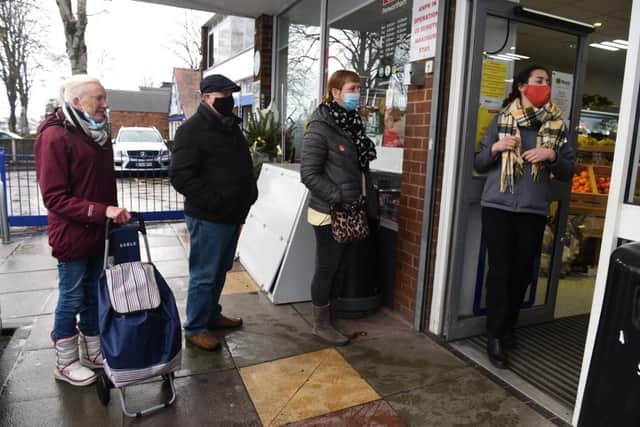
[[[120,391],[122,412],[140,417],[171,405],[176,398],[174,372],[181,366],[182,332],[176,301],[155,265],[147,230],[141,214],[131,212],[138,223],[105,230],[104,271],[98,284],[98,323],[104,357],[104,372],[96,387],[103,405],[111,399],[111,389]],[[142,234],[147,261],[140,257]],[[109,248],[113,259],[108,262]],[[165,402],[130,412],[125,389],[147,379],[162,376],[171,396]]]

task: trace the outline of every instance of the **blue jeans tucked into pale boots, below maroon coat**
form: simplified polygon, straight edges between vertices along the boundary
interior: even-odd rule
[[[102,273],[101,256],[58,262],[58,305],[53,323],[53,339],[75,335],[76,324],[89,336],[99,335],[98,280]],[[76,316],[80,315],[77,322]]]

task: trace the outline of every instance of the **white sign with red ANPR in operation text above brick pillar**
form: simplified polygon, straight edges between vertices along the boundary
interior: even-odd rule
[[[409,60],[413,62],[436,56],[437,35],[438,0],[414,0]]]

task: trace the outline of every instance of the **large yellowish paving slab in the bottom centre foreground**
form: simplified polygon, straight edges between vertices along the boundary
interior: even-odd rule
[[[380,396],[335,349],[240,369],[265,426],[279,426]]]

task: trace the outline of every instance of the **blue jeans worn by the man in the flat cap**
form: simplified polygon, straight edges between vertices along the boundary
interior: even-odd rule
[[[206,332],[209,322],[222,314],[220,294],[227,271],[233,266],[240,225],[184,217],[191,237],[184,332],[185,335],[196,335]]]

